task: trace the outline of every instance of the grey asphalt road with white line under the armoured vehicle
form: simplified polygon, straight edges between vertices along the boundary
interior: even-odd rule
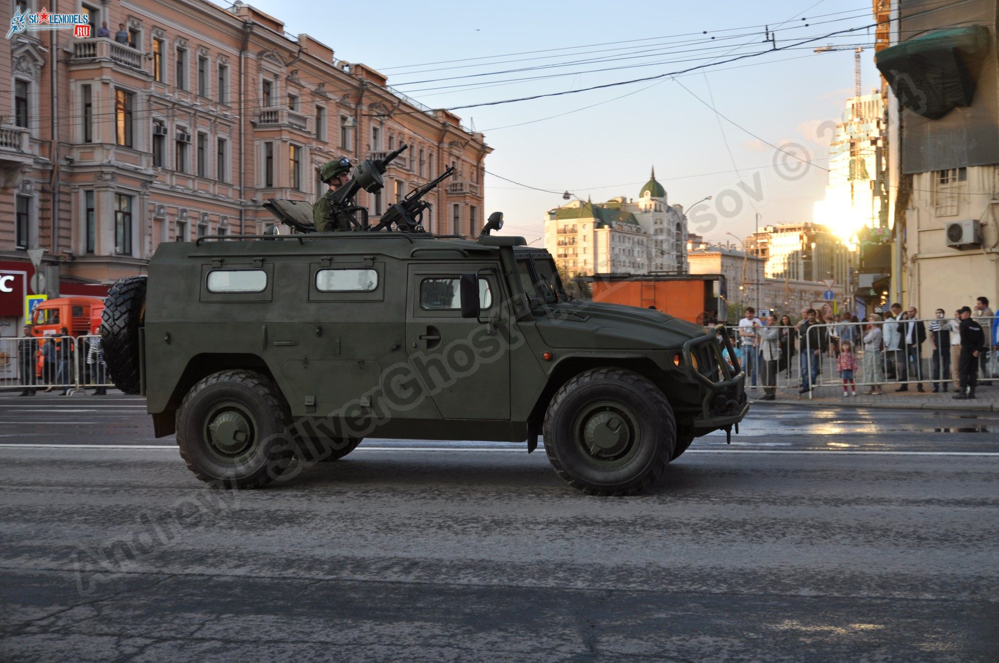
[[[596,498],[420,440],[213,491],[143,412],[0,397],[0,659],[997,660],[999,415],[761,404]]]

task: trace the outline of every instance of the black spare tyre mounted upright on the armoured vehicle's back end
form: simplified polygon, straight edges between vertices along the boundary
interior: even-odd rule
[[[139,330],[146,319],[146,277],[119,280],[104,301],[101,346],[111,381],[125,393],[139,393]]]

